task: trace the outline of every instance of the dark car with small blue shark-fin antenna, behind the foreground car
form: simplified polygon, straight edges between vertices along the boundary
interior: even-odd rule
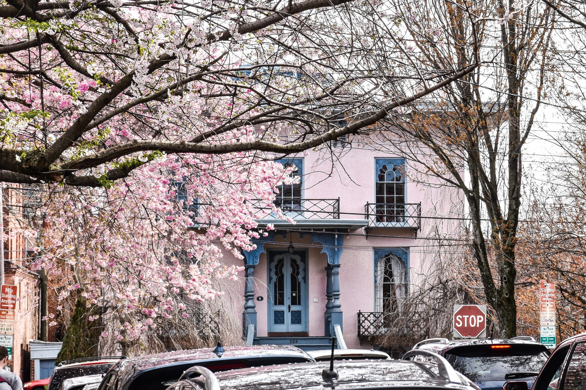
[[[194,365],[211,371],[226,371],[259,365],[315,362],[292,346],[249,346],[175,351],[136,358],[115,364],[105,375],[100,390],[164,390],[183,371]]]

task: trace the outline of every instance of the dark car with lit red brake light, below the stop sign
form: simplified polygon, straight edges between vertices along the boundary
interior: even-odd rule
[[[512,339],[428,339],[414,350],[440,354],[483,390],[501,390],[507,381],[525,379],[533,383],[546,363],[549,351],[533,337]]]

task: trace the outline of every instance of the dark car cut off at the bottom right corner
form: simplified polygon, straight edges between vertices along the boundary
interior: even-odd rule
[[[582,390],[586,386],[586,333],[557,346],[533,382],[532,390]],[[527,390],[530,382],[510,381],[504,390]]]

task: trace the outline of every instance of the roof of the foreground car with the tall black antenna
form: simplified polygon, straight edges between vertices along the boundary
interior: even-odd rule
[[[328,362],[272,365],[243,368],[215,374],[222,390],[285,390],[292,388],[324,388],[322,378]],[[339,378],[336,389],[357,387],[425,387],[472,390],[466,384],[447,382],[432,372],[428,365],[410,360],[355,360],[334,364]],[[202,377],[189,379],[199,383]],[[464,378],[464,381],[466,379]]]

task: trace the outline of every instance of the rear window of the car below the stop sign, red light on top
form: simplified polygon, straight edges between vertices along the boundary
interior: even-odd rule
[[[547,357],[544,347],[527,344],[456,347],[445,354],[456,371],[475,382],[535,377]]]

